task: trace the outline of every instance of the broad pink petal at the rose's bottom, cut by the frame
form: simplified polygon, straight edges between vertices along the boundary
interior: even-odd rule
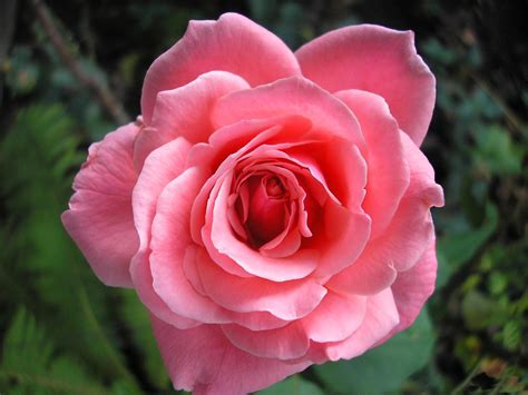
[[[216,325],[179,330],[153,317],[153,327],[174,387],[196,395],[256,392],[311,365],[245,353]]]

